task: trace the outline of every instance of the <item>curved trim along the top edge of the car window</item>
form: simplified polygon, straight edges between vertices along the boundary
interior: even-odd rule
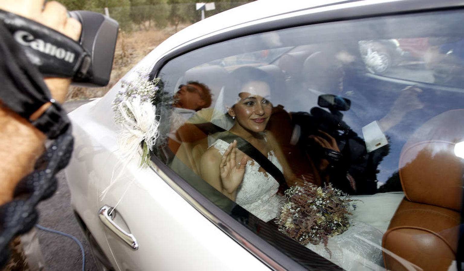
[[[331,9],[323,10],[326,7],[330,7]],[[211,33],[212,36],[199,37],[195,40],[191,40],[181,44],[180,46],[177,46],[176,48],[170,50],[168,53],[162,55],[161,58],[156,61],[155,65],[153,66],[150,72],[150,79],[159,76],[161,68],[163,68],[163,66],[166,63],[170,62],[174,58],[179,57],[180,55],[184,55],[193,50],[200,49],[202,47],[206,47],[215,43],[221,43],[234,38],[245,37],[269,31],[277,31],[285,28],[303,25],[313,25],[319,23],[329,23],[362,18],[375,18],[381,16],[393,16],[419,12],[430,12],[440,10],[445,11],[459,8],[464,8],[464,3],[460,2],[459,0],[448,0],[441,1],[438,3],[434,2],[433,0],[422,0],[419,5],[417,1],[404,0],[400,2],[392,1],[385,3],[376,3],[375,10],[373,10],[372,6],[368,1],[354,0],[343,1],[340,3],[326,6],[322,5],[311,7],[303,11],[294,11],[285,14],[279,14],[276,16],[251,21],[244,25],[232,26],[224,30],[218,31],[219,33],[217,34]],[[319,11],[321,9],[322,11]],[[298,13],[298,15],[289,17],[289,14],[292,13]],[[271,19],[272,21],[270,21]]]

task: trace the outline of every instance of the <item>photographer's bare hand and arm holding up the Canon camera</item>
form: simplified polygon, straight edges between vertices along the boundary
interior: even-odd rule
[[[44,0],[0,0],[0,9],[35,20],[75,40],[80,36],[80,23],[67,18],[66,9],[58,2],[47,2],[44,7]],[[63,103],[71,80],[47,78],[44,81],[53,99]],[[50,103],[43,105],[31,115],[31,120],[38,118],[49,106]],[[19,180],[32,172],[35,161],[44,150],[46,137],[1,101],[0,127],[0,204],[3,204],[12,199]]]

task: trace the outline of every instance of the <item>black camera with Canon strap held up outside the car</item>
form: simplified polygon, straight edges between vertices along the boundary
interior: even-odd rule
[[[82,24],[78,42],[35,21],[0,10],[0,20],[44,76],[71,78],[73,84],[81,86],[106,86],[118,23],[97,12],[71,11],[69,16]]]

